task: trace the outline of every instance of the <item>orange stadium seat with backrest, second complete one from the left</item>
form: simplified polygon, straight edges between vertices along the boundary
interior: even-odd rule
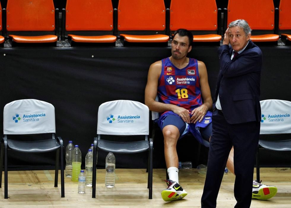
[[[63,15],[66,16],[63,21],[66,21],[63,23],[62,40],[66,36],[73,42],[87,43],[112,43],[117,39],[113,35],[111,0],[67,0]]]

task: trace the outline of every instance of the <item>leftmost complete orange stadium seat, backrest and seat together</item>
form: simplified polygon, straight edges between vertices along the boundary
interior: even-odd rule
[[[58,12],[55,12],[53,0],[8,0],[6,11],[6,29],[13,41],[47,43],[58,40],[55,35],[58,29],[55,14]]]

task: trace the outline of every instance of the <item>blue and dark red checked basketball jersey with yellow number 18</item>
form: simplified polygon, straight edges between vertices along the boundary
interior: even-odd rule
[[[158,83],[159,102],[174,104],[191,111],[202,105],[197,59],[189,58],[183,69],[178,69],[169,58],[162,59]]]

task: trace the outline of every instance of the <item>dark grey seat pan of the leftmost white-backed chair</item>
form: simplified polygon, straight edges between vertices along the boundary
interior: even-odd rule
[[[18,152],[50,152],[60,148],[60,144],[54,139],[41,141],[16,141],[7,139],[9,148]]]

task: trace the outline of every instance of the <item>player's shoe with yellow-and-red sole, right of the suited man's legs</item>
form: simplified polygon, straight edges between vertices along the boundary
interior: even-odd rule
[[[262,182],[262,181],[260,181]],[[267,186],[257,181],[253,181],[253,191],[252,198],[260,199],[260,200],[268,200],[275,196],[277,193],[277,187],[275,186]]]

